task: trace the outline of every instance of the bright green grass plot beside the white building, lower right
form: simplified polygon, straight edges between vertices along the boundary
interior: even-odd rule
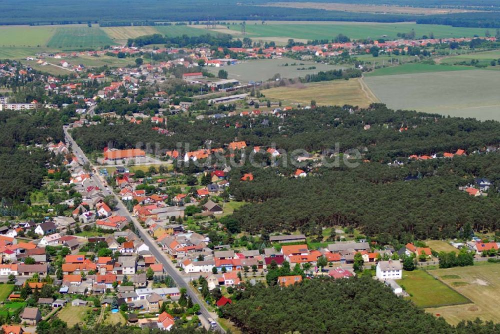
[[[423,270],[403,271],[403,278],[397,283],[412,294],[409,299],[420,308],[469,302],[466,297]]]

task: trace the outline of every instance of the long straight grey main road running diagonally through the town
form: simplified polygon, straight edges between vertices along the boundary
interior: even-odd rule
[[[71,143],[71,148],[73,150],[74,155],[78,158],[78,162],[81,164],[84,164],[86,162],[90,163],[90,166],[92,168],[95,168],[91,162],[87,159],[81,148],[76,144],[76,142],[73,140],[71,135],[67,132],[67,127],[64,126],[64,134],[66,138],[66,143]],[[95,168],[96,171],[97,168]],[[94,173],[94,176],[92,176],[92,181],[101,189],[105,189],[106,187],[104,186],[103,180],[97,175],[98,173]],[[199,294],[197,294],[193,287],[189,284],[188,281],[185,280],[185,278],[179,274],[179,271],[177,268],[175,268],[174,264],[170,261],[168,256],[161,250],[161,248],[157,245],[157,243],[154,241],[154,239],[147,233],[147,231],[142,228],[140,223],[138,222],[137,219],[135,219],[126,209],[125,205],[121,201],[121,198],[116,196],[116,194],[112,193],[112,195],[116,198],[118,205],[116,206],[116,213],[119,215],[122,215],[124,217],[127,217],[129,220],[131,220],[135,226],[135,229],[138,230],[140,238],[144,241],[144,243],[149,247],[149,250],[151,253],[156,257],[156,260],[161,262],[163,264],[163,269],[166,271],[166,273],[172,277],[172,279],[175,281],[175,284],[177,287],[185,287],[188,291],[188,294],[190,295],[193,303],[197,303],[200,306],[200,312],[203,314],[206,318],[211,317],[213,319],[216,319],[216,314],[213,312],[208,312],[208,310],[205,307],[205,301],[202,300],[202,298],[199,297]],[[216,328],[219,332],[225,333],[225,330],[217,325]]]

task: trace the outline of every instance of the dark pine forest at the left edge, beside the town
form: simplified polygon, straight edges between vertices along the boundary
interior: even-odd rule
[[[39,188],[49,154],[42,148],[26,145],[58,142],[62,138],[62,123],[55,112],[1,112],[0,197],[22,199]]]

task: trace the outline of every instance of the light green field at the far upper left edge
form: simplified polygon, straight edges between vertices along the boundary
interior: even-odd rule
[[[55,30],[54,26],[1,26],[0,46],[44,46]]]

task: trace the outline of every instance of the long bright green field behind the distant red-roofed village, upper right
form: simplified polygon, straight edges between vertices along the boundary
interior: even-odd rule
[[[241,25],[229,26],[230,30],[240,32]],[[220,30],[220,27],[219,29]],[[436,38],[445,37],[472,37],[477,34],[484,36],[483,28],[453,27],[439,24],[416,24],[408,23],[376,23],[376,22],[282,22],[262,24],[261,21],[246,21],[245,30],[247,35],[255,40],[259,37],[281,37],[294,39],[332,39],[339,33],[350,38],[386,38],[395,39],[398,32],[415,31],[416,36],[429,35],[430,32]]]

